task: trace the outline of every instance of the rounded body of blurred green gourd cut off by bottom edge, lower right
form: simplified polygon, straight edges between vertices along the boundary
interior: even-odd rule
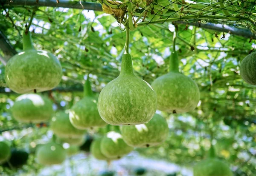
[[[198,162],[194,167],[194,176],[233,176],[229,166],[214,158]]]

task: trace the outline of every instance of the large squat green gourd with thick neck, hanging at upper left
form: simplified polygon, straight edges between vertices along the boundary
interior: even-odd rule
[[[61,81],[61,64],[53,54],[35,50],[30,32],[25,33],[23,52],[16,54],[7,62],[6,84],[18,94],[51,90]]]

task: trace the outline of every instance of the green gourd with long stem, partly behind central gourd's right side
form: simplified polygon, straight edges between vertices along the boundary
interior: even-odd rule
[[[178,54],[175,51],[176,36],[175,30],[169,73],[158,77],[151,84],[157,94],[157,109],[173,114],[194,110],[200,100],[198,85],[179,72]]]

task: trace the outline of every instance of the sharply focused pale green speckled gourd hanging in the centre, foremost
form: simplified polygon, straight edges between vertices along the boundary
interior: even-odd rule
[[[134,75],[131,55],[123,54],[119,77],[99,94],[99,115],[111,125],[139,125],[152,119],[156,108],[153,89]]]

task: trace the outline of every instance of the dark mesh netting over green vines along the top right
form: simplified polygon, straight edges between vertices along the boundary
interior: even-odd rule
[[[126,0],[122,3],[114,0],[99,0],[99,2],[103,5],[103,11],[113,14],[120,23],[126,22],[128,17],[125,16],[125,11],[128,11],[127,14],[134,16],[132,21],[135,27],[182,20],[184,23],[228,24],[249,28],[254,32],[256,25],[255,0]]]

